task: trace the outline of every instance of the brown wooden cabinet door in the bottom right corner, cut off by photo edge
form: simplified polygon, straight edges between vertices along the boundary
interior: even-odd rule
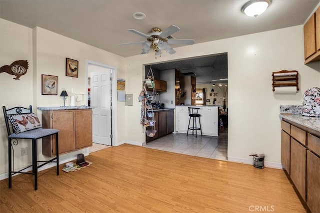
[[[320,153],[319,153],[320,154]],[[307,206],[312,213],[320,213],[320,158],[309,150],[307,159]]]

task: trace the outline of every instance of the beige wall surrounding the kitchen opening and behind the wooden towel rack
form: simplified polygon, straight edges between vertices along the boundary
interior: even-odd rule
[[[310,65],[303,62],[303,26],[183,46],[176,51],[157,59],[152,54],[126,58],[127,78],[132,73],[138,85],[142,81],[141,64],[227,52],[228,157],[232,161],[249,162],[251,153],[264,153],[270,166],[279,166],[279,106],[301,105],[303,92],[320,83],[320,62]],[[271,74],[283,69],[299,72],[298,93],[273,95]],[[136,85],[128,85],[133,97],[140,91]],[[126,120],[138,123],[140,104],[134,100]],[[144,140],[140,126],[127,125],[125,130],[126,137]]]

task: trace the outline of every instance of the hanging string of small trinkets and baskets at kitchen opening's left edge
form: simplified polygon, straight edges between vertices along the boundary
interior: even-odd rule
[[[147,94],[146,87],[152,88],[152,94]],[[154,87],[154,76],[150,67],[146,79],[143,82],[142,91],[139,96],[141,104],[141,120],[140,124],[145,128],[145,133],[148,137],[155,136],[155,120],[152,109],[151,101],[155,99],[155,87]]]

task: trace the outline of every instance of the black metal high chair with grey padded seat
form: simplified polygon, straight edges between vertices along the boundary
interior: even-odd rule
[[[16,115],[22,115],[23,119],[32,113],[32,106],[30,105],[29,108],[24,108],[24,107],[13,107],[10,109],[6,109],[5,106],[2,106],[3,109],[3,114],[4,114],[4,121],[5,121],[5,126],[6,126],[6,131],[8,134],[8,187],[11,188],[11,180],[12,180],[12,175],[14,174],[29,174],[29,175],[34,175],[34,190],[37,190],[37,171],[38,168],[51,163],[51,162],[56,162],[56,175],[59,175],[59,154],[58,154],[58,132],[59,130],[57,129],[43,129],[43,128],[35,128],[31,130],[27,130],[25,132],[20,132],[20,133],[15,133],[14,128],[12,127],[12,123],[10,119],[12,120],[12,116]],[[27,117],[29,118],[29,117]],[[33,117],[34,118],[34,117]],[[27,121],[28,120],[28,121]],[[26,123],[30,122],[34,125],[34,120],[32,120],[32,117],[29,119],[24,120]],[[38,121],[38,120],[37,120]],[[25,123],[24,122],[24,123]],[[9,124],[11,123],[11,125]],[[15,126],[17,126],[15,124]],[[55,135],[55,148],[56,148],[56,156],[52,158],[49,161],[38,161],[37,160],[37,145],[36,145],[36,140],[39,138],[43,138],[46,136],[53,136]],[[32,165],[29,165],[23,169],[20,169],[19,171],[12,171],[12,156],[11,156],[11,149],[13,150],[12,140],[17,139],[31,139],[32,141]],[[13,156],[14,157],[14,156]],[[38,163],[42,163],[38,166]],[[14,165],[13,165],[14,166]],[[23,172],[23,170],[32,167],[32,172]],[[14,168],[13,168],[14,170]]]

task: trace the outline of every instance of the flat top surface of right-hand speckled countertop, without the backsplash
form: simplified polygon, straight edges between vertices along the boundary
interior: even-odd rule
[[[299,114],[280,113],[280,119],[285,118],[294,123],[305,126],[309,129],[320,132],[320,117],[303,116]]]

